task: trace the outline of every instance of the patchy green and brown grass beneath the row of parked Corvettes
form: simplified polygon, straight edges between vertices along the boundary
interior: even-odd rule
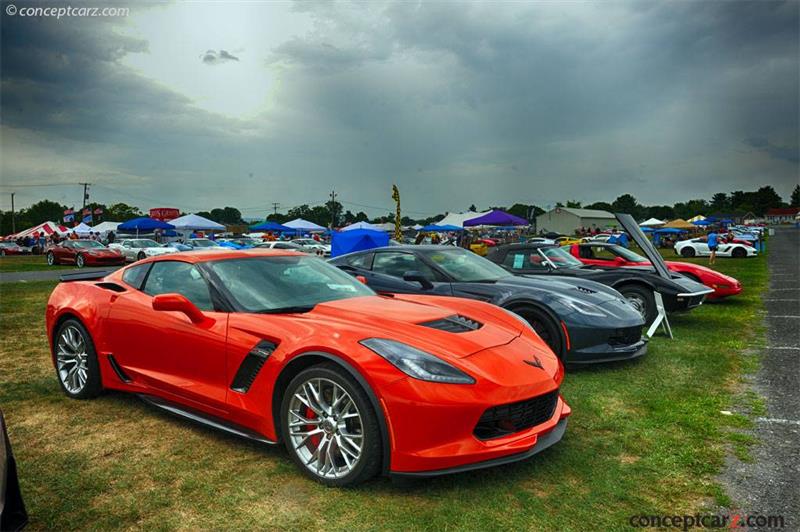
[[[730,501],[715,477],[747,458],[742,377],[763,345],[766,257],[719,260],[745,292],[671,318],[633,363],[568,373],[564,440],[500,468],[395,485],[324,488],[278,447],[261,447],[108,393],[66,399],[49,362],[54,283],[0,284],[0,405],[31,529],[625,529],[634,514]],[[705,260],[698,260],[705,263]]]

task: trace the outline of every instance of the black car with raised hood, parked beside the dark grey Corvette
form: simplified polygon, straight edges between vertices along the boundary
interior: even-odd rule
[[[658,313],[653,292],[661,294],[667,312],[694,308],[712,292],[680,274],[670,272],[670,277],[664,278],[649,267],[603,269],[587,266],[553,244],[509,244],[492,249],[486,258],[516,275],[575,277],[610,286],[619,291],[647,323]]]

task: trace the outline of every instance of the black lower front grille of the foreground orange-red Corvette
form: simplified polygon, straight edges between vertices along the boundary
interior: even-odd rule
[[[473,434],[491,440],[535,427],[551,417],[558,402],[558,388],[525,401],[494,406],[483,413]]]

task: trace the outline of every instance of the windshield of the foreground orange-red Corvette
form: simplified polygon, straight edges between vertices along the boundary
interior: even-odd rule
[[[375,295],[335,266],[306,255],[228,259],[209,267],[243,312],[307,312],[326,301]]]

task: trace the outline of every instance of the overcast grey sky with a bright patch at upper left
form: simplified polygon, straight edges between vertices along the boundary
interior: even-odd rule
[[[412,217],[798,183],[797,1],[7,5],[2,209],[79,181],[247,217],[332,188],[382,215],[393,182]]]

